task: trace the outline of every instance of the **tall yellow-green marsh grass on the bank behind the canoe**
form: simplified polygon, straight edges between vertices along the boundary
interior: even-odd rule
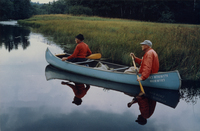
[[[148,39],[158,53],[160,71],[179,70],[183,79],[200,80],[199,25],[71,15],[38,15],[18,22],[52,36],[69,52],[74,50],[74,37],[81,33],[93,53],[126,65],[132,65],[130,52],[143,56],[139,43]]]

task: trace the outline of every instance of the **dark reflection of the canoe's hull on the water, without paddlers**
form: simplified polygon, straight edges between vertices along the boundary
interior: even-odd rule
[[[137,96],[140,92],[140,88],[136,85],[122,84],[94,77],[85,77],[85,75],[75,74],[69,71],[63,71],[52,65],[47,65],[45,68],[45,76],[47,81],[49,80],[64,80],[76,83],[83,83],[92,85],[99,88],[113,90],[127,94],[129,96]],[[146,96],[166,106],[176,108],[179,103],[180,94],[179,90],[167,90],[159,88],[144,87]]]

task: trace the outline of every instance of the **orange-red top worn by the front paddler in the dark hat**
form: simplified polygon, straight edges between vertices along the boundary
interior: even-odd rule
[[[68,57],[68,59],[72,59],[72,58],[86,58],[86,56],[91,55],[92,52],[89,49],[88,45],[84,42],[79,43],[75,50],[74,53],[72,55],[70,55]]]

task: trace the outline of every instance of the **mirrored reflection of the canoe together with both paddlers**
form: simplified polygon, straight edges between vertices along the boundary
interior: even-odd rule
[[[130,108],[132,104],[137,103],[139,105],[139,110],[141,114],[138,115],[136,122],[141,125],[145,125],[147,123],[147,119],[149,119],[153,115],[156,107],[156,102],[160,102],[172,108],[176,108],[179,102],[179,91],[144,87],[146,95],[140,95],[140,88],[137,86],[133,87],[133,85],[126,85],[100,80],[92,77],[85,77],[82,75],[77,75],[57,69],[56,67],[53,67],[51,65],[46,66],[45,76],[47,80],[59,79],[73,81],[74,84],[63,81],[61,83],[63,85],[68,85],[69,87],[71,87],[74,91],[75,97],[79,96],[79,98],[82,98],[87,93],[90,88],[89,85],[95,85],[100,88],[123,92],[125,95],[134,97],[133,100],[127,104],[127,108]],[[79,103],[79,105],[80,104],[81,102]]]

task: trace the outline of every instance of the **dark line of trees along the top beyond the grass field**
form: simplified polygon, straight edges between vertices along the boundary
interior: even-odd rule
[[[5,6],[6,5],[6,6]],[[141,21],[200,24],[200,0],[1,0],[2,18],[25,19],[36,14],[73,14]]]

